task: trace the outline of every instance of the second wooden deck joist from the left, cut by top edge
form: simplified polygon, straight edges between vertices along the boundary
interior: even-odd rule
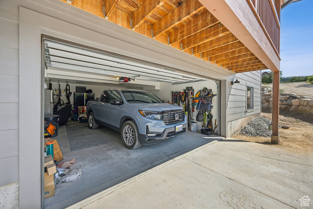
[[[145,0],[131,15],[132,29],[135,30],[167,0]]]

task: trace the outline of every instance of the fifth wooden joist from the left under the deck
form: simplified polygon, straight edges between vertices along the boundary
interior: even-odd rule
[[[189,36],[186,39],[182,39],[182,47],[183,49],[192,48],[199,44],[221,37],[225,34],[230,34],[230,31],[225,26],[223,26],[223,24],[218,23],[212,27],[200,31],[199,33]]]

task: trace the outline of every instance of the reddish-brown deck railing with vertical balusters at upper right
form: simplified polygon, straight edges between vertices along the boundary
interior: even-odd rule
[[[280,21],[273,0],[248,0],[276,53],[280,53]]]

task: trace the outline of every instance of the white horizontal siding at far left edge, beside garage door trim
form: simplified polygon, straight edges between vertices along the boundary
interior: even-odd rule
[[[19,180],[18,7],[0,4],[0,186]]]

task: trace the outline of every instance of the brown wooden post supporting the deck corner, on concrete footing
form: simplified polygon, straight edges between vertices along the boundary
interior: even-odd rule
[[[279,144],[280,139],[278,135],[278,124],[279,124],[279,72],[276,71],[273,72],[273,112],[272,112],[272,118],[273,118],[273,133],[271,135],[271,143],[272,144]]]

